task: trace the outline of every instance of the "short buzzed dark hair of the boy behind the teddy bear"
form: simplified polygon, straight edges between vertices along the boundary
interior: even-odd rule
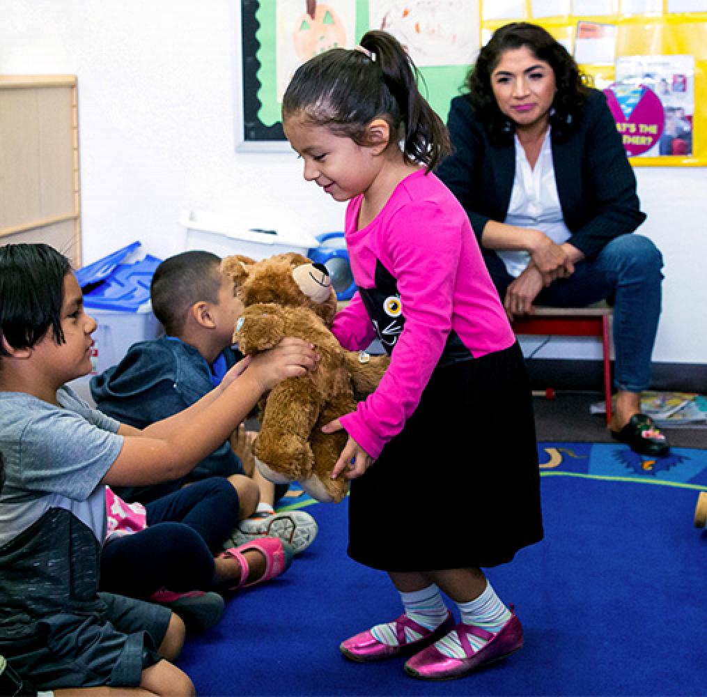
[[[163,261],[150,286],[152,311],[169,335],[184,327],[189,308],[199,301],[218,302],[221,257],[211,252],[182,252]]]

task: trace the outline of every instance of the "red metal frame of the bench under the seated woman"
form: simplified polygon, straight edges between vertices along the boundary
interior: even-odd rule
[[[513,321],[517,335],[595,336],[602,340],[604,358],[604,399],[607,426],[612,420],[612,353],[609,333],[610,313],[596,315],[525,315]]]

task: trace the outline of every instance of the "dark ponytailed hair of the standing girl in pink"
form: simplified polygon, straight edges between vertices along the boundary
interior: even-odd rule
[[[360,49],[334,48],[296,70],[282,100],[283,119],[302,113],[315,125],[368,145],[366,127],[385,119],[405,158],[430,171],[450,151],[447,128],[417,86],[418,71],[402,45],[369,31]]]

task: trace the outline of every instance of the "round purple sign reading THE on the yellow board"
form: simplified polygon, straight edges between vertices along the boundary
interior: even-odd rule
[[[660,142],[665,112],[660,98],[650,87],[614,83],[604,94],[629,157],[642,155]]]

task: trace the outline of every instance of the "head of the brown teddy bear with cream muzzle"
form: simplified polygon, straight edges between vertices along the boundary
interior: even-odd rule
[[[259,303],[307,307],[328,325],[337,311],[337,295],[329,272],[301,254],[289,252],[253,262],[243,257],[224,260],[236,294],[248,307]]]

